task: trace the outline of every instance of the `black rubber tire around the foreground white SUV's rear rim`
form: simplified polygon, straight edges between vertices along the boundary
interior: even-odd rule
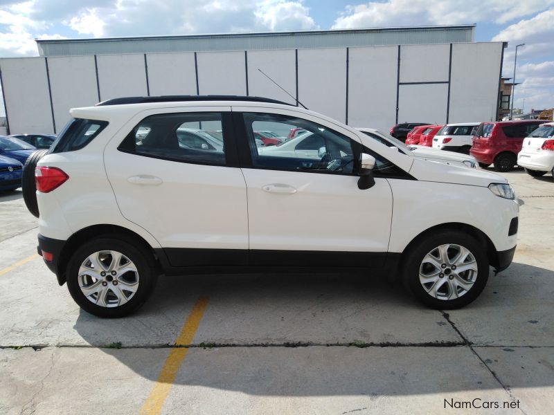
[[[87,298],[80,288],[78,278],[80,266],[87,259],[87,257],[89,257],[89,255],[92,255],[94,252],[104,250],[116,251],[125,255],[125,257],[134,263],[139,274],[139,286],[136,289],[136,293],[132,296],[129,295],[128,301],[121,306],[99,306]],[[143,247],[141,244],[132,243],[132,241],[126,240],[125,237],[119,237],[118,235],[106,235],[84,243],[73,253],[71,259],[69,259],[69,264],[66,270],[66,282],[71,297],[73,297],[75,302],[84,311],[98,317],[114,318],[128,315],[141,307],[150,295],[152,295],[157,283],[158,274],[159,271],[157,264],[154,261],[154,256],[152,255],[152,252],[148,252],[147,248]],[[107,274],[107,277],[109,277],[109,273]],[[115,281],[115,277],[112,277],[112,279]],[[111,285],[113,284],[113,281],[111,283],[107,282],[107,284],[110,284],[107,286],[108,291],[111,288],[114,288]],[[108,291],[106,292],[106,295],[111,295],[111,297],[113,297],[114,291],[111,291],[111,293]]]

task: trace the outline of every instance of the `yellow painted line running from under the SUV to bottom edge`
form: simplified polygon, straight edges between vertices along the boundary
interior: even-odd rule
[[[195,337],[200,320],[202,320],[202,315],[204,314],[204,310],[206,310],[206,306],[208,306],[208,298],[200,297],[193,307],[193,310],[190,311],[183,329],[181,329],[181,333],[179,333],[175,340],[175,345],[181,346],[193,342],[193,338]],[[158,380],[154,384],[154,387],[152,387],[150,395],[148,395],[148,398],[141,408],[141,414],[154,415],[161,412],[163,402],[168,397],[171,385],[175,381],[175,376],[177,376],[177,371],[185,359],[187,351],[188,348],[186,347],[178,347],[170,350],[166,362],[163,363]]]

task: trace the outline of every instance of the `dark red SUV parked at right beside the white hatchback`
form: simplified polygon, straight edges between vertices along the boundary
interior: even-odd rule
[[[497,172],[510,172],[517,164],[524,138],[544,120],[481,122],[473,137],[470,154],[481,167],[494,163]]]

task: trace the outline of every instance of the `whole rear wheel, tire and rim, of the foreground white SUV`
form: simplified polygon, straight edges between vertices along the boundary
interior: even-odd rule
[[[71,256],[66,272],[71,297],[98,317],[123,317],[154,291],[157,266],[148,250],[117,237],[85,243]]]

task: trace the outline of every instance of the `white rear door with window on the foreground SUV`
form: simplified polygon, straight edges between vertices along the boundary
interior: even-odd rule
[[[231,123],[229,107],[145,111],[105,151],[121,213],[159,241],[173,266],[246,264],[247,193]],[[178,136],[189,130],[222,130],[225,144],[190,148]]]

